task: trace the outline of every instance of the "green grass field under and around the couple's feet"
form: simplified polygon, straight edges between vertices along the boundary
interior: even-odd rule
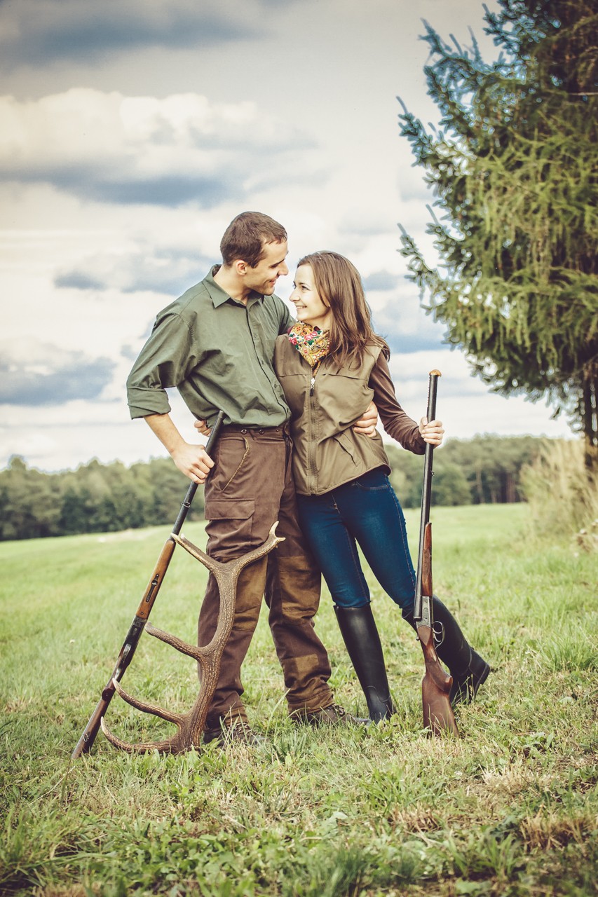
[[[163,528],[0,544],[0,894],[542,895],[595,893],[596,555],[535,540],[523,505],[435,509],[435,588],[494,668],[458,712],[459,740],[422,732],[420,651],[374,588],[399,712],[312,731],[286,718],[266,615],[243,667],[257,749],[129,756],[100,734],[70,754],[122,644]],[[418,513],[408,513],[417,538]],[[201,524],[186,535],[204,544]],[[152,622],[195,639],[205,571],[177,549]],[[318,618],[332,684],[365,702],[330,598]],[[144,635],[128,691],[174,709],[189,658]],[[115,697],[131,740],[171,728]]]

